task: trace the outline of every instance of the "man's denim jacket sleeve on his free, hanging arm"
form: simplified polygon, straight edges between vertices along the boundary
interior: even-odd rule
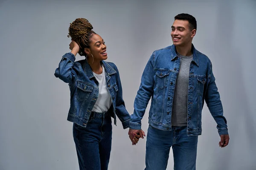
[[[209,66],[209,83],[207,85],[206,94],[205,94],[205,102],[209,111],[217,123],[217,129],[219,135],[228,134],[227,130],[227,120],[223,116],[223,107],[221,104],[220,94],[218,92],[217,85],[215,83],[215,77],[212,73],[212,63],[210,62]]]

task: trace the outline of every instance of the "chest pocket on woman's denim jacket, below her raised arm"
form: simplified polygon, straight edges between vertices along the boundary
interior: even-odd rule
[[[85,82],[77,82],[76,99],[83,101],[87,100],[88,96],[93,91],[93,87]]]

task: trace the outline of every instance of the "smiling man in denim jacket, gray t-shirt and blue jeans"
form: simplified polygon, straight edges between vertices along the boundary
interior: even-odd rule
[[[173,45],[156,50],[142,75],[134,101],[129,137],[140,133],[141,119],[151,98],[146,142],[145,170],[166,170],[170,147],[174,169],[195,170],[198,135],[204,100],[217,123],[220,147],[227,146],[227,121],[212,74],[210,59],[192,44],[195,17],[178,14],[172,25]]]

